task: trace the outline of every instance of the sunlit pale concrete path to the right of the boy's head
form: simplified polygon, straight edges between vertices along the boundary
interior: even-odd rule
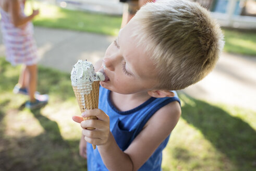
[[[256,111],[256,57],[223,53],[215,69],[184,92],[197,99]]]

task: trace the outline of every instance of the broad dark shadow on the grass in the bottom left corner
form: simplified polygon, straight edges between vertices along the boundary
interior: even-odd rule
[[[64,140],[55,121],[41,115],[39,109],[31,112],[44,129],[35,137],[22,132],[6,136],[6,125],[1,120],[0,170],[84,170],[86,162],[78,154],[79,140]],[[1,118],[4,115],[0,110]]]

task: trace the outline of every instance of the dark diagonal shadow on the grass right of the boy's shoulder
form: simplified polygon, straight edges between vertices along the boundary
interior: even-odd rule
[[[256,132],[245,121],[231,116],[223,109],[186,95],[182,115],[189,124],[198,128],[217,150],[225,154],[237,170],[256,168]]]

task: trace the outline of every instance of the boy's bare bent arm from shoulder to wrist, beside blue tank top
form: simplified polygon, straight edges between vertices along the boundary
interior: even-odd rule
[[[108,141],[97,146],[109,170],[138,170],[166,139],[176,126],[181,114],[178,102],[172,102],[157,111],[135,140],[123,152],[109,132]]]

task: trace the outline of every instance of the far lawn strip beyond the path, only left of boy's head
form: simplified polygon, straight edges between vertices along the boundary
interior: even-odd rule
[[[40,14],[33,20],[35,26],[86,31],[107,35],[117,35],[121,26],[120,16],[86,13],[68,10],[53,5],[34,2]],[[26,14],[31,14],[31,3],[26,5]]]

